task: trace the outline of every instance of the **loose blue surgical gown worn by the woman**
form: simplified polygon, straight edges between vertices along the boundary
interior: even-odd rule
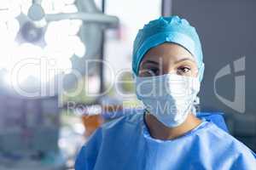
[[[212,122],[177,139],[154,139],[143,114],[132,114],[99,127],[84,144],[76,170],[226,170],[256,169],[253,151]]]

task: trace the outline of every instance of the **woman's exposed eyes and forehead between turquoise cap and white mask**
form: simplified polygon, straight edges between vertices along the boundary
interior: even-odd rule
[[[195,58],[188,50],[165,42],[148,50],[140,64],[139,76],[152,77],[168,73],[196,77],[198,68]]]

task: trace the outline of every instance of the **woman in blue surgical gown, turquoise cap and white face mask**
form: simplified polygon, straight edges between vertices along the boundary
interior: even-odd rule
[[[76,170],[255,170],[252,150],[196,116],[202,59],[187,20],[160,17],[139,30],[132,70],[145,109],[99,127],[80,150]]]

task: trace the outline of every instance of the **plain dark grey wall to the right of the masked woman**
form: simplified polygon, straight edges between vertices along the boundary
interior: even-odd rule
[[[171,9],[172,14],[189,20],[201,37],[206,65],[201,111],[224,112],[230,133],[253,150],[256,150],[255,8],[253,0],[172,0]]]

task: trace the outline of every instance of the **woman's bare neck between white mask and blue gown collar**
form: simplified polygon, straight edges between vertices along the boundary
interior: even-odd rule
[[[177,127],[166,127],[163,123],[158,121],[155,116],[151,114],[145,114],[145,123],[147,124],[150,135],[154,139],[176,139],[182,136],[184,133],[189,132],[195,127],[199,126],[201,120],[193,114],[189,114],[185,122]]]

